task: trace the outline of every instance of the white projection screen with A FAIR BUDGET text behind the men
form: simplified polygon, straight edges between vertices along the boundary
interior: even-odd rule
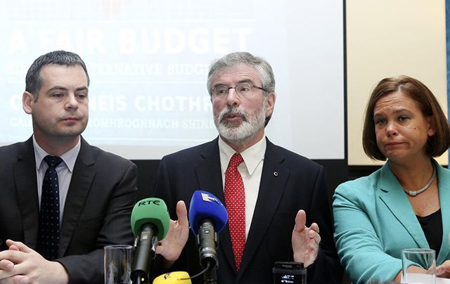
[[[5,1],[0,10],[0,144],[25,141],[25,74],[43,53],[84,59],[84,138],[129,159],[160,159],[217,136],[207,67],[233,51],[271,63],[271,141],[312,159],[344,159],[342,1]]]

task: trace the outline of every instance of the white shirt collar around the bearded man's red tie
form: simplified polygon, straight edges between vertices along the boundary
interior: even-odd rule
[[[231,160],[231,157],[236,151],[231,148],[222,138],[219,136],[219,153],[220,163],[223,172],[226,172],[226,168]],[[242,156],[245,167],[250,175],[255,172],[255,169],[261,160],[264,160],[264,154],[266,153],[266,136],[263,136],[255,145],[245,149],[240,155]]]

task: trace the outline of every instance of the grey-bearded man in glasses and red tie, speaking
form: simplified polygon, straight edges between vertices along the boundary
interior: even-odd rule
[[[198,189],[224,202],[229,224],[219,233],[217,283],[272,283],[276,261],[304,263],[308,283],[340,283],[323,167],[264,135],[276,99],[269,63],[250,53],[226,55],[212,65],[207,88],[219,137],[163,157],[155,196],[169,211],[178,200],[189,204]],[[177,269],[202,271],[192,234]]]

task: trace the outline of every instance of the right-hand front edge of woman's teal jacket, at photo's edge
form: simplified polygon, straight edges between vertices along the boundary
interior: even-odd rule
[[[439,200],[441,203],[441,216],[442,216],[442,245],[439,250],[439,254],[436,256],[437,264],[440,264],[448,259],[450,253],[449,238],[450,238],[450,174],[447,169],[442,168],[437,164],[435,167],[437,169],[437,181],[439,188]]]

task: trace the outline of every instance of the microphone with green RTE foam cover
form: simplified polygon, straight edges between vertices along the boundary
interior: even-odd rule
[[[148,283],[150,269],[150,250],[153,237],[162,240],[170,226],[169,212],[164,200],[145,198],[134,205],[131,212],[131,230],[136,237],[131,280],[133,283]]]

